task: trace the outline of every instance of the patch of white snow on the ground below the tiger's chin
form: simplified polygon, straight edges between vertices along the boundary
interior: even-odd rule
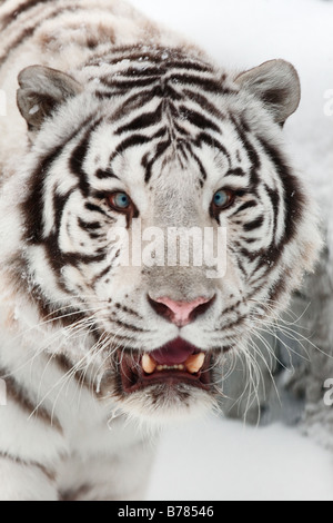
[[[170,428],[150,501],[333,501],[333,456],[295,430],[211,418]]]

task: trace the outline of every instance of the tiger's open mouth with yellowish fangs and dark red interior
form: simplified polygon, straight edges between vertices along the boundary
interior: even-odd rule
[[[188,384],[209,391],[211,358],[210,353],[182,338],[150,353],[135,355],[119,351],[122,388],[131,394],[152,385]]]

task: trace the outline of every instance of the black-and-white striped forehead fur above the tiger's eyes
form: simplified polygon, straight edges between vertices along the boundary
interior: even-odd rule
[[[115,129],[114,134],[120,137],[124,135],[125,138],[115,148],[110,164],[113,158],[124,154],[127,149],[144,144],[152,145],[157,140],[154,154],[145,154],[142,158],[147,184],[151,179],[153,165],[172,147],[176,151],[182,167],[185,167],[189,156],[196,161],[201,171],[201,185],[203,185],[206,172],[194,148],[209,145],[226,157],[229,157],[229,152],[221,140],[213,136],[221,134],[219,125],[221,111],[214,108],[213,102],[209,102],[206,98],[196,96],[195,88],[204,87],[208,95],[219,92],[219,96],[221,96],[221,91],[232,92],[232,90],[223,87],[223,79],[216,76],[212,67],[208,67],[198,59],[189,61],[189,57],[178,50],[167,52],[165,49],[157,49],[153,52],[148,52],[145,57],[139,51],[140,49],[137,52],[133,52],[133,49],[119,51],[115,49],[112,57],[101,56],[98,61],[92,62],[93,67],[91,63],[88,65],[88,70],[93,69],[94,72],[91,77],[92,85],[98,85],[94,95],[101,99],[111,98],[111,96],[124,98],[121,112],[112,115],[110,122],[114,124],[121,119],[122,125]],[[119,59],[117,58],[118,52],[120,53]],[[108,66],[113,67],[107,75]],[[114,68],[117,72],[114,72]],[[180,75],[178,69],[184,69],[184,72]],[[201,76],[196,72],[200,72]],[[202,78],[202,72],[205,73],[204,78]],[[101,87],[104,88],[103,91],[101,91]],[[135,100],[133,93],[135,90],[139,100]],[[128,92],[130,92],[129,100],[127,99]],[[137,102],[135,106],[133,106],[134,102]],[[205,106],[209,108],[206,115],[203,114],[202,103],[204,109]],[[128,106],[129,120],[123,124]],[[139,112],[139,116],[135,116],[135,112]],[[148,135],[150,129],[151,132]]]

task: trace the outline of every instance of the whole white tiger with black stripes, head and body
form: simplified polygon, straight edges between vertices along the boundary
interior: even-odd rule
[[[225,72],[120,0],[7,0],[0,43],[0,499],[142,499],[138,424],[223,402],[313,268],[283,142],[300,80],[283,60]],[[133,245],[139,221],[226,230],[223,276],[157,244],[123,263],[113,233]]]

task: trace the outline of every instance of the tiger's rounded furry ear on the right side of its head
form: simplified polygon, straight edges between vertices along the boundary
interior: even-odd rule
[[[300,105],[300,77],[287,61],[266,61],[241,73],[235,81],[265,103],[276,124],[283,125]]]

